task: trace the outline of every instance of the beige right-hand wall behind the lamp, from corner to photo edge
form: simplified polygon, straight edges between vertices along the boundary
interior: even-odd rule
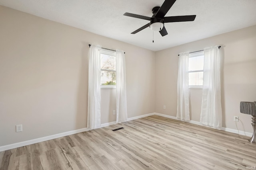
[[[240,101],[256,100],[256,25],[156,52],[156,112],[176,116],[178,54],[221,45],[223,127],[252,133],[251,115]],[[190,118],[200,121],[202,89],[190,89]],[[166,105],[166,109],[163,109]]]

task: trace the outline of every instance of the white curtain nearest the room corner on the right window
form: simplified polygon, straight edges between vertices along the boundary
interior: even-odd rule
[[[178,70],[178,106],[177,119],[189,121],[189,89],[188,89],[188,59],[189,53],[180,53]]]

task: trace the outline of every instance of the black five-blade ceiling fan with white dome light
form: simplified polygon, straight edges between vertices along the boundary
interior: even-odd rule
[[[150,23],[144,25],[143,27],[140,27],[136,31],[133,31],[131,34],[138,33],[139,31],[145,29],[146,27],[150,27],[152,31],[159,31],[162,36],[165,36],[168,33],[164,27],[164,23],[194,21],[196,18],[196,15],[164,17],[166,13],[170,10],[170,8],[172,7],[175,1],[176,0],[165,0],[161,7],[159,6],[154,7],[152,9],[152,13],[153,13],[152,17],[141,16],[141,15],[131,14],[126,12],[124,16],[140,18],[143,20],[150,21]]]

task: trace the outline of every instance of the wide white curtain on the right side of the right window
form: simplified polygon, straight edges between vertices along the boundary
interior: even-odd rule
[[[220,52],[218,46],[204,49],[204,80],[200,122],[222,127],[220,102]]]

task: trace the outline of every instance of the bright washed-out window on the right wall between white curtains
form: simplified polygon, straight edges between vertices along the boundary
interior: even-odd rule
[[[188,86],[189,88],[203,88],[204,51],[189,54]]]

